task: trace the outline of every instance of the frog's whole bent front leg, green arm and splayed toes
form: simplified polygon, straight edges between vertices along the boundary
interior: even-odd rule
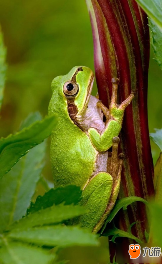
[[[107,109],[101,101],[97,103],[106,117],[105,128],[99,133],[95,128],[91,127],[88,129],[88,136],[93,146],[97,151],[107,151],[112,146],[112,138],[118,136],[123,123],[123,115],[125,108],[130,104],[134,97],[134,92],[122,102],[120,105],[117,104],[117,90],[118,90],[118,78],[112,79],[113,91],[110,101],[110,107]]]

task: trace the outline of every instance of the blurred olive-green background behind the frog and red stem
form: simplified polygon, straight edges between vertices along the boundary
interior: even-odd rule
[[[0,0],[0,6],[8,64],[0,134],[7,136],[19,129],[21,121],[29,113],[39,110],[43,116],[47,115],[54,77],[67,74],[75,65],[86,65],[94,70],[93,42],[85,1]],[[151,49],[148,87],[150,132],[162,126],[162,73],[152,58]],[[96,92],[95,84],[93,94]],[[160,151],[154,143],[151,146],[155,163]],[[44,174],[52,179],[49,151]],[[105,264],[108,263],[107,240],[102,238],[104,246],[98,251],[77,248],[64,250],[61,254],[70,258],[70,263]]]

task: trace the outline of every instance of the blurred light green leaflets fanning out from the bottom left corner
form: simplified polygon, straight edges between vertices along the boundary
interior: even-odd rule
[[[72,188],[77,190],[77,187],[73,186]],[[63,197],[66,194],[66,187],[65,190],[63,188],[59,190],[60,197],[61,192]],[[80,193],[80,190],[78,192]],[[74,196],[72,195],[72,197]],[[49,255],[47,249],[44,247],[37,248],[36,246],[45,246],[46,248],[72,245],[97,246],[97,236],[92,234],[90,230],[62,224],[65,220],[85,213],[83,207],[74,205],[76,203],[75,199],[74,202],[71,200],[71,203],[69,205],[54,204],[51,207],[41,209],[32,214],[30,213],[26,217],[9,225],[1,234],[0,260],[2,263],[34,263],[31,262],[31,258],[33,257],[34,260],[37,258],[36,263],[46,264],[56,259],[55,254]],[[14,250],[15,247],[16,250]],[[23,253],[25,255],[24,258]]]

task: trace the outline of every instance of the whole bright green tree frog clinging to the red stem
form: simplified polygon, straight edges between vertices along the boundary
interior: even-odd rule
[[[81,204],[87,213],[79,218],[79,223],[97,232],[118,196],[123,159],[123,154],[118,155],[118,135],[124,110],[134,93],[118,105],[119,79],[113,78],[108,109],[91,95],[93,81],[92,70],[85,66],[74,67],[67,75],[54,78],[48,113],[58,116],[51,137],[54,186],[81,187]],[[111,146],[112,152],[108,152]]]

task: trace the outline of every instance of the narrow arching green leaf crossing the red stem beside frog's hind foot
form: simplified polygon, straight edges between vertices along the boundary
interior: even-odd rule
[[[108,219],[105,222],[105,225],[102,229],[102,232],[104,231],[107,223],[111,222],[113,220],[113,218],[115,217],[115,215],[119,212],[119,210],[121,208],[127,209],[127,206],[133,202],[143,202],[144,204],[148,204],[148,202],[145,199],[143,199],[141,197],[137,197],[137,196],[125,197],[125,198],[118,200],[115,203],[115,206],[114,206],[113,210],[111,211],[110,215],[108,216]]]

